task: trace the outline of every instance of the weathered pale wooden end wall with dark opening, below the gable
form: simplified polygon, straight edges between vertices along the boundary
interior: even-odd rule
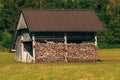
[[[32,62],[32,38],[27,29],[18,31],[16,38],[16,60]]]

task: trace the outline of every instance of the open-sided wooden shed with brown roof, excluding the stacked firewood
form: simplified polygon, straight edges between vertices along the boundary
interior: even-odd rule
[[[35,41],[95,41],[104,28],[94,10],[21,10],[10,52],[16,60],[35,62]]]

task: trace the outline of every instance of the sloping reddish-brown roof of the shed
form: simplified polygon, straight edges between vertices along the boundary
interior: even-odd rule
[[[104,31],[94,10],[23,9],[30,31]]]

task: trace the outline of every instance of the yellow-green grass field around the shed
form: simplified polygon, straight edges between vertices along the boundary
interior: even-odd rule
[[[0,52],[0,80],[120,80],[120,49],[100,49],[99,62],[22,63]]]

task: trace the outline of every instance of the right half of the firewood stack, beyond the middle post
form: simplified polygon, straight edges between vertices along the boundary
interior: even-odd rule
[[[68,44],[68,61],[96,61],[98,48],[94,44]]]

